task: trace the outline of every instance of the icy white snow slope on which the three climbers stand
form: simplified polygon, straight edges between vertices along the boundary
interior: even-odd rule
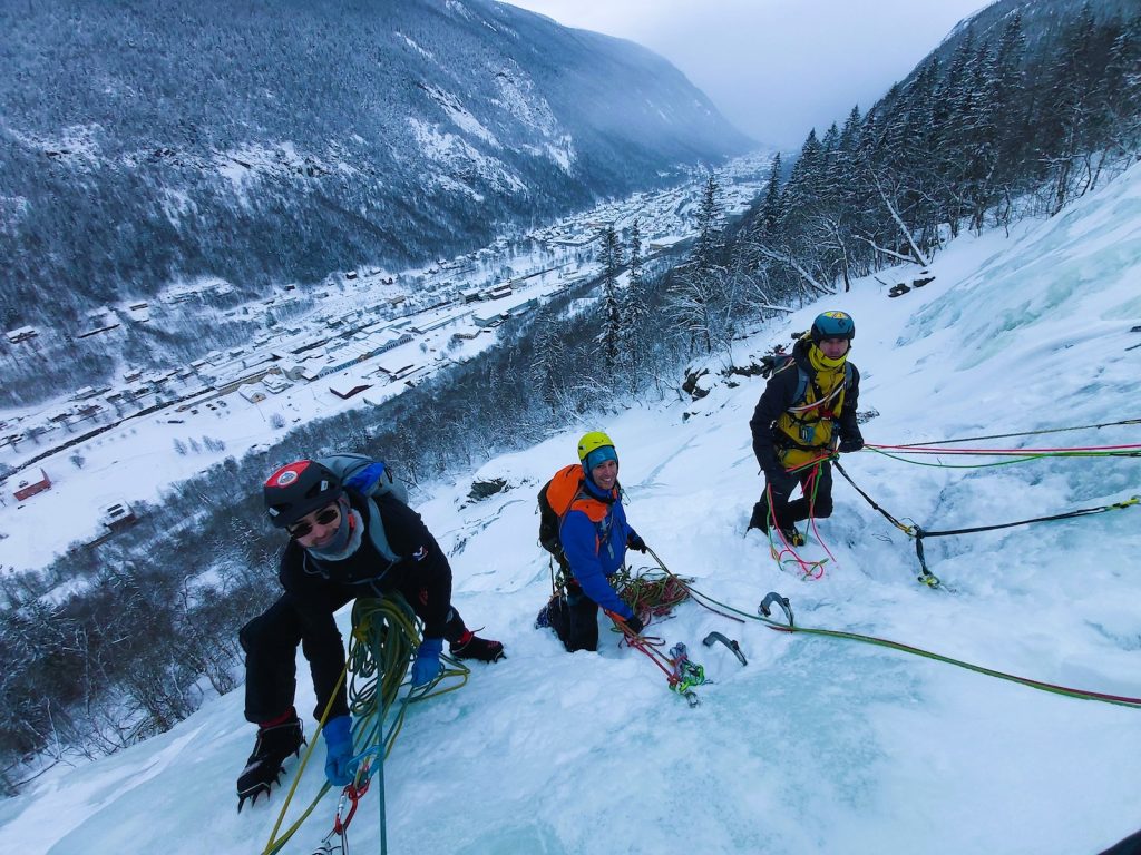
[[[860,280],[745,344],[760,353],[822,309],[851,312],[861,409],[879,410],[864,425],[872,443],[1141,415],[1141,334],[1130,332],[1141,324],[1141,170],[1053,220],[1022,223],[1010,239],[961,238],[932,272],[934,282],[895,300],[875,279]],[[713,678],[690,709],[613,637],[597,654],[568,656],[533,628],[550,589],[535,491],[574,459],[581,432],[601,427],[617,446],[632,523],[671,570],[743,612],[777,591],[808,627],[1141,695],[1141,508],[930,540],[931,568],[954,588],[937,592],[915,581],[912,542],[840,480],[836,511],[818,526],[836,560],[823,579],[803,581],[775,564],[755,532],[744,536],[760,490],[747,421],[761,389],[759,380],[722,383],[688,407],[640,404],[568,425],[475,473],[508,479],[507,491],[466,504],[466,475],[421,504],[452,555],[458,606],[505,643],[508,658],[410,712],[386,764],[391,850],[1061,855],[1099,852],[1136,830],[1139,709],[879,646],[778,634],[687,603],[652,632],[685,642]],[[1126,425],[966,445],[1135,445],[1139,433]],[[843,465],[876,502],[929,530],[1141,492],[1138,458],[936,469],[861,451]],[[704,648],[711,630],[737,640],[748,665]],[[301,686],[299,708],[308,710],[307,678]],[[161,738],[52,769],[0,805],[5,848],[261,850],[284,793],[234,813],[233,782],[253,741],[241,709],[234,692]],[[322,758],[318,748],[318,766]],[[317,768],[302,775],[301,804],[319,783]],[[366,799],[350,829],[357,852],[378,848],[377,804]],[[334,807],[326,799],[284,850],[313,852]]]

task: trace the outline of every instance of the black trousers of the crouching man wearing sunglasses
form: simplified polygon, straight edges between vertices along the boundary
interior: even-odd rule
[[[338,592],[330,594],[332,611],[337,611],[356,595],[338,587]],[[408,605],[421,619],[424,618],[426,598],[421,597],[419,585],[414,588],[411,585],[408,591],[400,591]],[[444,627],[444,637],[448,642],[455,642],[466,632],[463,618],[454,608],[447,617]],[[317,708],[314,718],[321,718],[324,712],[327,695],[322,697],[322,683],[326,682],[318,671],[327,674],[331,662],[326,661],[324,668],[318,668],[317,662],[324,657],[329,660],[329,651],[324,649],[317,640],[306,630],[306,624],[301,614],[297,611],[293,602],[288,595],[282,595],[266,611],[256,617],[237,634],[242,650],[245,651],[245,720],[254,724],[270,722],[282,716],[293,706],[297,694],[297,648],[301,645],[301,652],[309,662],[313,670],[314,685],[317,687]],[[325,640],[327,644],[327,640]],[[345,663],[346,651],[343,646],[334,651],[337,657],[337,671],[333,681],[340,674],[340,668]],[[324,687],[331,692],[332,685]],[[337,700],[329,712],[330,718],[347,716],[349,714],[346,701],[345,689],[338,693]]]

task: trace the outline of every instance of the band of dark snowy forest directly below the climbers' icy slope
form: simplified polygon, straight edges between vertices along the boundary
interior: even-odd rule
[[[266,457],[230,458],[116,542],[11,578],[0,614],[6,785],[30,774],[24,756],[115,750],[186,715],[207,683],[233,685],[236,629],[274,592],[278,542],[257,486],[289,449],[372,453],[431,481],[631,397],[701,397],[702,372],[759,372],[735,365],[734,348],[760,320],[887,267],[919,271],[964,230],[1051,217],[1127,169],[1141,145],[1141,18],[1087,7],[1033,48],[1023,24],[1013,10],[1000,30],[966,27],[950,59],[932,56],[866,112],[809,135],[733,234],[711,180],[680,268],[644,271],[637,233],[608,234],[602,310],[556,300],[454,372],[302,425]]]

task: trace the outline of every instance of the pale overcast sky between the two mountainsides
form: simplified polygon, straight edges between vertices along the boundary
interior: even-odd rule
[[[799,149],[993,0],[511,0],[661,54],[754,139]]]

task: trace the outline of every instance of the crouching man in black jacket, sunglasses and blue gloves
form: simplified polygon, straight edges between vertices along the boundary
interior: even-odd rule
[[[380,471],[383,464],[375,464]],[[350,483],[364,484],[369,470]],[[363,480],[361,480],[363,479]],[[290,542],[278,579],[285,592],[240,635],[245,651],[245,717],[259,725],[258,740],[238,777],[238,808],[245,798],[269,792],[282,762],[304,742],[293,707],[297,648],[313,674],[327,749],[325,773],[343,785],[353,780],[351,720],[343,684],[345,644],[333,614],[359,597],[399,592],[423,620],[423,642],[412,665],[414,686],[440,671],[444,640],[458,659],[494,662],[503,645],[474,635],[452,606],[452,568],[420,515],[390,492],[366,496],[346,487],[317,461],[298,461],[269,477],[262,492],[270,520]]]

